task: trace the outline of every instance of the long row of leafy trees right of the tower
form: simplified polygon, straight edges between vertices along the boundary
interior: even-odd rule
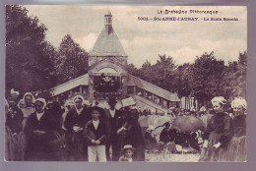
[[[160,55],[157,64],[146,61],[140,69],[132,64],[128,72],[147,82],[177,92],[181,96],[194,96],[200,105],[208,105],[214,96],[226,99],[246,97],[247,53],[240,53],[238,61],[224,65],[214,52],[204,53],[193,64],[176,66],[171,57]]]

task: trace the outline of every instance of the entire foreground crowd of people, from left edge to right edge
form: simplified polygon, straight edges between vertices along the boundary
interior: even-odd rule
[[[246,161],[243,98],[232,101],[231,115],[230,111],[224,111],[224,97],[213,98],[214,115],[204,132],[179,133],[171,127],[171,122],[166,122],[158,141],[153,135],[156,128],[152,126],[143,135],[138,122],[141,113],[132,97],[123,99],[120,109],[116,108],[114,98],[108,99],[107,108],[100,107],[98,101],[91,104],[81,95],[72,100],[74,106],[61,106],[52,99],[35,99],[31,92],[25,93],[22,99],[6,100],[7,159],[145,161],[146,148],[171,142],[171,152],[177,152],[176,144],[191,146],[201,153],[199,161]],[[182,117],[175,113],[173,116]],[[14,156],[10,156],[13,150],[10,139],[17,139]]]

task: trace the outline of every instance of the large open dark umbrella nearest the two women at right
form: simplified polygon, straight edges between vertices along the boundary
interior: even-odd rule
[[[179,132],[195,132],[197,130],[205,130],[204,122],[195,116],[182,116],[172,122],[172,128]]]

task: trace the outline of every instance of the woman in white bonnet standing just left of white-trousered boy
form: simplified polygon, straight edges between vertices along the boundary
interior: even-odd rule
[[[83,130],[88,121],[92,120],[89,102],[82,95],[76,95],[74,98],[75,107],[70,109],[65,121],[64,127],[67,130],[67,143],[69,148],[69,160],[87,160],[87,146],[84,145]],[[85,104],[87,103],[87,104]]]

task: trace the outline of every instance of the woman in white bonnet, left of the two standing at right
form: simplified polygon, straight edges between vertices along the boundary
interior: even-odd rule
[[[202,135],[204,144],[199,161],[225,161],[227,145],[233,136],[232,119],[224,112],[223,96],[214,97],[211,102],[215,114]]]

